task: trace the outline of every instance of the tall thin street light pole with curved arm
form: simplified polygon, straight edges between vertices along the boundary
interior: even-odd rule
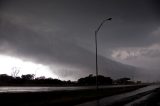
[[[99,27],[97,28],[97,30],[95,30],[95,47],[96,47],[96,89],[98,90],[98,46],[97,46],[97,35],[98,35],[98,31],[100,30],[100,28],[103,26],[103,24],[106,21],[112,20],[112,18],[107,18],[105,20],[103,20],[101,22],[101,24],[99,25]]]

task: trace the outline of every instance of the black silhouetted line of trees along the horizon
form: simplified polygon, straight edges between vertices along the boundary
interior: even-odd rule
[[[130,78],[120,78],[113,80],[110,77],[99,75],[99,85],[113,85],[113,84],[135,84],[141,83],[131,81]],[[60,79],[45,78],[44,76],[36,77],[34,74],[26,74],[19,76],[9,76],[7,74],[0,74],[0,86],[90,86],[96,84],[96,76],[92,74],[87,77],[78,79],[77,81],[62,81]]]

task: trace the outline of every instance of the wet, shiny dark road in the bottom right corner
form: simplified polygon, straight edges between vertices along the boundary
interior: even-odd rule
[[[146,96],[152,94],[153,91],[159,87],[160,85],[151,85],[132,92],[106,97],[100,100],[86,102],[76,106],[133,106],[133,104],[135,104],[135,101],[138,101],[142,98],[147,98]]]

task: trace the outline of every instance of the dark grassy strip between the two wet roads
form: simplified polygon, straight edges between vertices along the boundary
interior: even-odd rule
[[[147,85],[137,85],[117,88],[100,88],[28,93],[0,93],[0,106],[73,106],[89,100],[125,93]],[[160,92],[159,95],[160,97]]]

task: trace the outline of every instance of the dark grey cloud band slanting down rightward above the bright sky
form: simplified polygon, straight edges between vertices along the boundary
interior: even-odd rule
[[[61,77],[73,76],[74,78],[78,78],[81,75],[93,73],[95,69],[95,54],[93,52],[62,39],[62,36],[59,38],[59,36],[52,35],[37,35],[37,33],[22,26],[18,27],[9,22],[5,25],[9,25],[9,27],[3,26],[3,28],[1,28],[1,47],[4,48],[3,51],[0,48],[1,53],[20,57],[22,59],[27,58],[28,60],[50,65],[51,67],[54,64],[61,64],[62,67],[63,65],[70,67],[60,70],[54,70],[53,68],[53,72]],[[17,31],[14,31],[15,33],[10,33],[10,31],[15,30],[15,28]],[[5,31],[6,29],[9,31]],[[103,70],[100,73],[104,75],[106,74],[106,70],[107,75],[112,75],[114,77],[131,74],[131,72],[125,72],[126,74],[124,73],[123,75],[120,75],[119,72],[117,73],[117,70],[124,71],[127,70],[129,66],[123,66],[120,63],[107,60],[101,56],[99,60],[102,66],[101,70]],[[118,68],[115,68],[114,65]],[[76,69],[76,67],[81,70]],[[131,70],[135,71],[135,69]],[[129,71],[131,70],[129,69]],[[116,74],[113,75],[113,73]]]

